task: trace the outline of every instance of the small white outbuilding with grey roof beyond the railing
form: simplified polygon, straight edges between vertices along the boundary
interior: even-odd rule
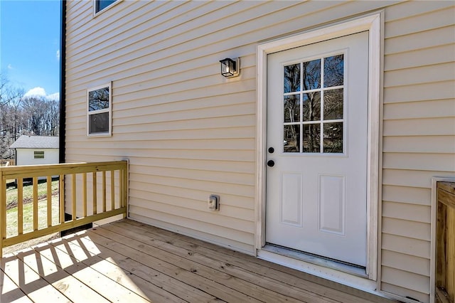
[[[16,149],[16,165],[58,163],[58,137],[23,134],[10,149]]]

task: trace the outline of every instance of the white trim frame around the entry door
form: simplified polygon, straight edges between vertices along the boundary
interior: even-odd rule
[[[257,46],[257,181],[256,249],[265,245],[266,139],[267,139],[267,54],[305,46],[332,38],[368,31],[368,176],[367,176],[367,266],[370,280],[378,274],[378,223],[380,181],[380,73],[381,14],[371,14],[296,36],[281,38]]]

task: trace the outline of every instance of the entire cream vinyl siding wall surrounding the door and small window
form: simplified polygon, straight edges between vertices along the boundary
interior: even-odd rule
[[[453,2],[92,5],[67,1],[65,160],[129,159],[131,218],[250,254],[257,44],[384,9],[381,288],[429,301],[430,179],[455,174]],[[237,56],[240,77],[223,78]],[[87,88],[109,81],[112,137],[88,138]]]

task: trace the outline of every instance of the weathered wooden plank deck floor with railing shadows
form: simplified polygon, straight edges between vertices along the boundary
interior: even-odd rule
[[[119,220],[5,255],[0,302],[391,302]]]

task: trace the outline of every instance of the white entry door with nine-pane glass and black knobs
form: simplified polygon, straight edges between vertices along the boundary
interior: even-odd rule
[[[266,242],[366,265],[368,32],[267,55]]]

